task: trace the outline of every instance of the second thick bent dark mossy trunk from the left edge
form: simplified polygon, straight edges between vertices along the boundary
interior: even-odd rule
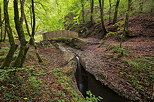
[[[19,10],[18,10],[18,0],[14,0],[14,21],[15,21],[15,27],[18,33],[18,37],[20,40],[20,51],[19,54],[14,62],[14,67],[22,67],[23,65],[23,60],[24,60],[24,56],[25,56],[25,51],[26,51],[26,39],[25,39],[25,35],[24,35],[24,31],[23,31],[23,27],[22,24],[19,20]]]

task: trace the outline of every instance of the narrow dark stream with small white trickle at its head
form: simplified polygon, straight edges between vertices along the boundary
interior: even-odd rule
[[[101,102],[131,102],[124,97],[119,96],[113,90],[103,85],[100,81],[87,72],[80,63],[80,58],[77,56],[77,69],[75,73],[78,89],[84,97],[87,97],[86,91],[91,91],[95,96],[101,96],[103,100]]]

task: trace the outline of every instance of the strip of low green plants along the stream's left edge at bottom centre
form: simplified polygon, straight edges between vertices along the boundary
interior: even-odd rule
[[[85,99],[81,97],[81,95],[77,92],[77,89],[75,89],[75,87],[72,85],[73,80],[69,76],[67,76],[64,69],[56,68],[52,71],[52,73],[57,78],[57,81],[61,84],[63,90],[66,90],[66,92],[69,92],[72,95],[72,98],[69,100],[70,102],[98,102],[102,99],[101,97],[96,97],[90,91],[87,91],[87,95],[89,95],[89,97],[86,97]],[[60,91],[56,94],[60,95],[61,97],[61,100],[59,100],[58,102],[68,101],[68,98],[66,97],[64,92]]]

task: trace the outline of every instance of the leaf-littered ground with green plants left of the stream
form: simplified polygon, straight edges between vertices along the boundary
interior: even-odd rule
[[[0,50],[0,65],[9,50],[5,45]],[[41,48],[42,63],[35,52],[29,49],[23,68],[8,69],[1,75],[0,102],[83,102],[75,79],[64,66],[63,52],[51,46]],[[16,70],[15,76],[7,76],[12,70]]]

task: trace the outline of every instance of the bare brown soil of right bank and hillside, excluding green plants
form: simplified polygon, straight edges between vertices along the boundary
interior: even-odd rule
[[[120,73],[122,70],[128,69],[127,71],[130,71],[131,68],[128,64],[123,63],[124,60],[131,61],[154,55],[153,25],[154,14],[141,13],[130,17],[129,31],[132,36],[122,43],[122,47],[127,50],[128,55],[126,56],[115,56],[115,53],[110,49],[111,46],[120,45],[116,35],[100,40],[100,24],[94,24],[94,26],[89,24],[89,36],[92,37],[80,39],[84,42],[80,45],[82,51],[74,49],[72,51],[81,57],[81,63],[88,72],[119,95],[131,100],[152,102],[154,98],[153,83],[141,92],[132,85],[130,78]],[[117,31],[117,26],[108,25],[106,28],[109,31]],[[146,75],[149,75],[149,73],[146,73]]]

